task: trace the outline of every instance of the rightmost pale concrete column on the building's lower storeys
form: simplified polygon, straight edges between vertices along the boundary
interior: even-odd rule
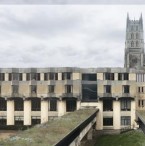
[[[135,100],[131,100],[131,128],[137,127],[135,122],[136,114],[135,114]]]

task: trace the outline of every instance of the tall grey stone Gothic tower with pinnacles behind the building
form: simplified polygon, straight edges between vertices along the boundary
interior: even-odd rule
[[[142,14],[139,20],[130,20],[127,14],[125,64],[127,68],[141,68],[144,64],[144,35]]]

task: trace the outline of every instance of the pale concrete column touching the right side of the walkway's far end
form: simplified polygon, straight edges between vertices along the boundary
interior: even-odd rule
[[[97,113],[96,130],[103,129],[103,101],[98,103],[99,112]]]

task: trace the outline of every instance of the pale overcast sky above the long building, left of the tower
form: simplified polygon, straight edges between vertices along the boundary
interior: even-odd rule
[[[0,67],[123,67],[127,12],[144,5],[0,5]]]

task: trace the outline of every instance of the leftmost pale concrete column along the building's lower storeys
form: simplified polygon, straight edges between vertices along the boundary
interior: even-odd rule
[[[14,125],[14,100],[7,100],[7,125]]]

